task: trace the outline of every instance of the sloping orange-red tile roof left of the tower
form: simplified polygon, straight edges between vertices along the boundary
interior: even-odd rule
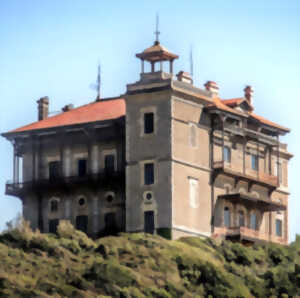
[[[93,102],[17,128],[9,133],[116,119],[126,114],[123,98]]]

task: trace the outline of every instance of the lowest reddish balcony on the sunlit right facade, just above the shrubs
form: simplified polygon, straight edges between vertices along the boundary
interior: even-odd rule
[[[252,230],[247,227],[215,227],[213,237],[221,237],[228,240],[236,240],[247,243],[271,241],[283,245],[288,244],[287,241],[282,237],[261,233],[257,230]]]

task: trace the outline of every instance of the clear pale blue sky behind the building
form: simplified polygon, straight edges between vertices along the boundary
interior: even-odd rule
[[[135,53],[160,40],[180,59],[175,71],[219,84],[223,98],[254,87],[256,112],[292,133],[283,138],[290,163],[290,239],[300,234],[300,1],[0,1],[0,132],[37,119],[36,100],[50,110],[93,101],[90,85],[102,65],[103,96],[118,96],[139,78]],[[299,154],[297,154],[299,153]],[[0,139],[0,230],[21,210],[4,195],[12,177],[12,146]]]

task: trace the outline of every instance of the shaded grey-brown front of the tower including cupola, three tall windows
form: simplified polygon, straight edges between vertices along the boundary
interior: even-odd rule
[[[140,80],[127,85],[126,230],[166,233],[171,228],[171,85],[177,55],[158,41],[136,54]],[[145,62],[151,65],[145,72]],[[163,71],[163,63],[169,71]],[[156,65],[159,64],[159,70]]]

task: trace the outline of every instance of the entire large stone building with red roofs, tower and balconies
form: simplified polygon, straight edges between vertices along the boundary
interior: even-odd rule
[[[221,99],[173,75],[158,41],[136,55],[140,79],[118,98],[65,106],[4,133],[14,147],[6,194],[33,228],[70,220],[91,236],[119,231],[288,243],[289,129],[253,110],[253,90]],[[150,71],[145,72],[145,62]],[[169,68],[166,71],[165,65]],[[156,69],[159,66],[159,69]]]

